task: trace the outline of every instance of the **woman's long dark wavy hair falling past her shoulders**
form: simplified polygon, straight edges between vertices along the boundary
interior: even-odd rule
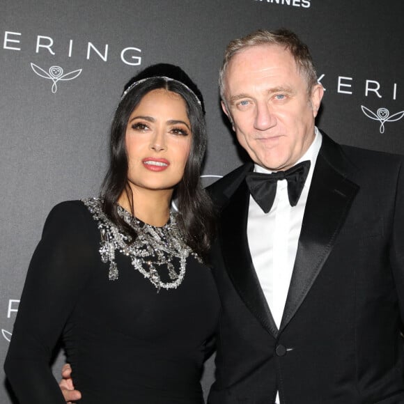
[[[166,80],[170,77],[177,80]],[[201,165],[207,143],[206,125],[201,93],[196,85],[180,68],[173,65],[159,64],[146,68],[131,79],[125,88],[141,79],[148,78],[137,84],[121,100],[111,124],[110,162],[107,175],[102,183],[101,196],[104,213],[122,231],[130,235],[132,240],[136,233],[132,227],[118,215],[116,205],[119,196],[127,192],[132,203],[132,191],[128,185],[127,150],[125,132],[132,111],[139,105],[142,98],[150,91],[165,88],[179,94],[187,105],[187,116],[192,130],[192,143],[182,180],[176,186],[176,198],[179,214],[178,226],[187,242],[199,256],[206,259],[215,228],[212,202],[207,192],[201,187]],[[178,82],[180,81],[180,82]],[[185,84],[183,86],[182,84]],[[187,88],[192,88],[192,93]],[[198,98],[196,98],[198,95]],[[200,100],[201,104],[199,104]],[[132,214],[134,213],[133,206]]]

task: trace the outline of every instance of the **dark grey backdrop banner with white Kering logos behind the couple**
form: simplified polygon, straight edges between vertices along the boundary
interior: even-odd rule
[[[401,0],[1,0],[1,365],[45,217],[60,201],[98,194],[130,77],[173,63],[199,85],[208,185],[245,158],[219,107],[224,48],[286,27],[309,45],[325,88],[318,126],[341,143],[404,154],[403,17]],[[212,373],[210,360],[205,391]],[[2,366],[0,377],[0,403],[14,403]]]

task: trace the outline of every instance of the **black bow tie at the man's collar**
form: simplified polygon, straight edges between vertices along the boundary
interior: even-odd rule
[[[245,180],[249,192],[261,209],[267,213],[271,210],[277,194],[277,181],[288,181],[288,198],[290,206],[295,206],[306,182],[310,169],[310,161],[301,162],[286,171],[277,171],[272,174],[248,173]]]

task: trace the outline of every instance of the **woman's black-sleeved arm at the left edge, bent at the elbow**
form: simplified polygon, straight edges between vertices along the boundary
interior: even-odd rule
[[[98,253],[88,218],[79,201],[57,205],[33,254],[4,365],[20,404],[65,404],[49,362]]]

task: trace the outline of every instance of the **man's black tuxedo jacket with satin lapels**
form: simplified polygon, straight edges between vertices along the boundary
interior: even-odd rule
[[[210,187],[222,300],[210,404],[402,404],[404,160],[323,134],[280,329],[247,243],[246,164]]]

